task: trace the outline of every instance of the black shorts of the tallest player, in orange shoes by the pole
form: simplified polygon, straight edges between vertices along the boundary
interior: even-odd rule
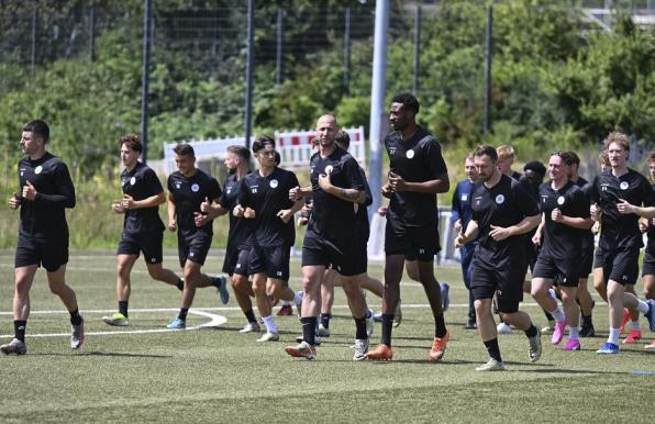
[[[406,226],[387,220],[385,254],[404,255],[407,260],[433,261],[441,250],[436,220],[423,226]]]

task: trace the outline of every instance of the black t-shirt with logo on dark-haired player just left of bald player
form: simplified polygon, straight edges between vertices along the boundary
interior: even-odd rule
[[[244,209],[255,210],[253,243],[262,247],[293,245],[293,220],[285,224],[277,214],[291,209],[289,190],[298,186],[296,174],[277,167],[266,177],[256,170],[242,179],[238,202]]]

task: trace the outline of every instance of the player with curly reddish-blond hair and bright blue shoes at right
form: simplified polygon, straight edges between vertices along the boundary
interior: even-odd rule
[[[611,170],[603,171],[590,188],[591,217],[601,220],[599,241],[603,279],[610,305],[610,334],[607,343],[597,350],[600,355],[619,353],[619,334],[623,306],[637,309],[646,314],[651,330],[655,331],[655,301],[640,301],[626,292],[626,284],[634,284],[639,275],[639,255],[642,234],[639,215],[642,204],[655,205],[655,192],[648,181],[628,167],[630,143],[625,134],[613,132],[604,141]],[[636,208],[636,209],[635,209]],[[599,213],[602,215],[599,216]]]

